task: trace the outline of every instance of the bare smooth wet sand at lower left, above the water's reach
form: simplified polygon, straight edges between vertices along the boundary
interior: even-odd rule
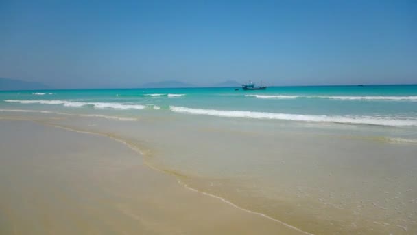
[[[0,234],[302,234],[184,188],[108,137],[0,130]]]

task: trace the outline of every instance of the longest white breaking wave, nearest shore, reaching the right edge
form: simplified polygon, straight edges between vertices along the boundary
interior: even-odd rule
[[[390,119],[383,117],[336,116],[336,115],[305,115],[289,113],[263,113],[252,111],[222,111],[215,109],[193,109],[187,107],[170,106],[176,113],[195,115],[212,115],[219,117],[246,117],[254,119],[291,120],[304,122],[333,122],[339,124],[368,124],[377,126],[417,126],[417,120]]]

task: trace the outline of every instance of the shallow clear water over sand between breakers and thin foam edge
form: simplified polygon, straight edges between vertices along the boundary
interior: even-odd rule
[[[208,122],[206,128],[200,128],[200,126],[195,128],[192,124],[190,126],[188,122],[183,122],[179,118],[159,120],[145,116],[141,117],[139,122],[121,122],[120,120],[102,118],[102,116],[78,115],[77,113],[71,115],[60,115],[60,113],[56,112],[31,112],[29,115],[27,113],[17,114],[13,111],[12,113],[6,113],[1,115],[0,120],[24,119],[25,121],[45,126],[45,128],[53,127],[58,130],[63,129],[62,131],[69,133],[90,134],[86,136],[95,135],[95,137],[104,137],[105,139],[110,138],[110,142],[118,145],[123,144],[120,145],[123,148],[130,148],[129,152],[134,150],[133,153],[136,154],[136,157],[138,157],[138,154],[141,155],[139,159],[146,165],[146,168],[158,171],[158,175],[169,177],[180,188],[196,192],[198,197],[214,199],[219,203],[226,204],[229,208],[240,210],[241,213],[252,214],[252,216],[258,217],[258,219],[266,219],[287,228],[291,228],[294,225],[298,234],[301,233],[298,228],[311,234],[333,234],[334,232],[340,234],[361,232],[379,234],[387,231],[395,231],[402,234],[407,232],[398,229],[401,227],[395,227],[396,225],[406,227],[408,232],[414,230],[413,221],[407,220],[405,223],[392,221],[392,219],[401,218],[400,216],[394,216],[392,219],[387,217],[388,219],[385,220],[372,219],[372,216],[378,217],[382,213],[388,214],[388,212],[392,212],[394,206],[401,206],[395,204],[400,203],[400,200],[394,201],[398,197],[395,195],[397,192],[398,195],[404,192],[401,195],[406,197],[402,200],[405,203],[409,203],[410,199],[415,198],[412,197],[411,185],[407,187],[407,181],[403,181],[405,185],[401,186],[401,188],[384,191],[384,194],[379,198],[370,197],[369,199],[364,199],[357,197],[356,200],[353,198],[347,202],[340,201],[340,199],[346,198],[340,196],[349,195],[350,192],[355,193],[355,191],[347,190],[351,188],[346,188],[346,186],[349,186],[347,180],[350,180],[350,182],[354,180],[353,182],[355,182],[357,179],[361,179],[365,184],[374,181],[371,178],[372,174],[368,175],[366,173],[368,168],[364,163],[374,163],[374,160],[379,162],[382,159],[381,157],[383,157],[384,161],[390,162],[394,153],[403,156],[397,158],[395,162],[398,166],[407,166],[407,168],[402,170],[402,172],[407,172],[404,176],[405,178],[408,176],[413,177],[410,175],[412,171],[409,170],[413,166],[410,163],[414,161],[412,161],[413,158],[409,158],[412,157],[410,155],[412,152],[410,151],[414,149],[414,144],[409,142],[404,145],[403,142],[392,142],[387,141],[387,139],[381,140],[378,136],[372,135],[370,137],[353,135],[353,133],[350,133],[350,135],[337,135],[338,133],[327,133],[325,131],[322,133],[301,132],[298,129],[285,129],[278,133],[274,131],[274,128],[266,131],[263,129],[261,131],[253,131],[251,129],[242,131],[237,128],[239,126],[230,125],[228,120],[224,120],[224,123],[216,122],[215,124]],[[211,121],[211,119],[207,118],[204,121]],[[202,121],[199,120],[199,122]],[[222,128],[225,125],[227,125],[226,128]],[[241,126],[241,124],[239,125]],[[198,136],[198,139],[195,138],[196,136]],[[307,147],[320,146],[320,148],[315,148],[313,152],[309,151],[309,155],[304,155],[305,151],[302,148],[298,148],[297,145],[291,146],[290,143],[294,143],[295,140],[304,143]],[[242,143],[244,146],[253,146],[254,141],[258,143],[256,146],[263,146],[262,149],[265,149],[262,152],[263,155],[269,157],[257,155],[258,152],[252,151],[250,148],[243,148],[242,150],[237,148]],[[266,148],[273,143],[276,143],[274,148]],[[355,152],[356,155],[351,155],[350,152],[337,152],[337,158],[331,157],[331,155],[323,155],[324,150],[329,149],[326,147],[329,143],[333,146],[330,150],[337,150],[343,147],[355,148],[360,151]],[[217,146],[218,148],[211,148],[211,146]],[[244,152],[242,152],[243,150]],[[280,151],[276,152],[274,150]],[[276,155],[276,153],[279,154]],[[381,155],[377,159],[372,160],[368,157],[364,158],[366,153],[381,153]],[[254,155],[257,155],[257,157],[253,157]],[[274,156],[278,157],[278,159],[275,159]],[[234,160],[230,161],[232,159]],[[236,161],[237,159],[241,159],[241,163]],[[335,161],[336,159],[344,161],[346,163],[344,166],[355,167],[350,168],[357,172],[353,176],[355,178],[350,177],[352,172],[346,167],[339,168],[334,164],[323,165],[326,161]],[[410,161],[407,161],[407,159]],[[272,179],[272,181],[262,181],[263,179],[254,181],[250,176],[257,174],[257,168],[242,168],[250,166],[248,165],[249,163],[259,164],[265,160],[272,160],[272,163],[276,166],[274,168],[263,166],[265,170],[276,172],[277,177],[268,175],[267,178],[263,178]],[[307,161],[311,163],[308,164],[309,166],[305,166]],[[213,163],[216,164],[210,165]],[[256,165],[254,166],[257,167]],[[388,170],[386,171],[388,172],[386,177],[392,175],[392,177],[387,178],[388,181],[396,179],[393,177],[396,177],[398,174],[390,174],[389,172],[392,170],[385,166],[379,167]],[[304,168],[304,170],[294,172],[294,169],[300,169],[300,167]],[[222,172],[222,169],[241,169],[244,170],[244,172],[241,172],[244,174],[241,175],[239,174],[240,172]],[[378,168],[374,167],[374,169]],[[307,182],[305,176],[313,179],[309,180],[310,184],[303,183]],[[329,176],[332,178],[333,183],[332,181],[328,182],[331,185],[322,183],[326,179],[330,179]],[[318,177],[324,177],[322,178],[324,181]],[[343,177],[343,180],[340,180],[339,177]],[[313,188],[309,188],[309,185]],[[271,186],[274,188],[270,188]],[[344,188],[340,189],[344,190],[345,194],[334,191],[333,186],[338,188],[344,186]],[[368,192],[368,188],[366,187],[362,190],[367,190]],[[378,189],[374,186],[372,188]],[[265,189],[270,191],[265,191]],[[309,191],[311,189],[320,191],[318,191],[318,194],[311,194],[315,193]],[[326,192],[329,192],[329,194],[326,195]],[[372,193],[372,189],[369,192]],[[352,195],[359,196],[356,193]],[[382,201],[383,199],[385,199],[385,203]],[[392,199],[392,204],[386,205],[386,200],[390,199]],[[386,210],[375,207],[375,203]],[[196,207],[200,208],[199,205],[196,205]],[[396,209],[397,212],[413,213],[411,210],[412,207],[401,208],[401,210]],[[352,211],[353,214],[349,214]],[[358,219],[359,217],[355,214],[360,215],[361,219]],[[228,220],[226,219],[224,222],[227,223]],[[256,228],[251,227],[251,229]],[[262,232],[257,231],[257,233]],[[266,232],[266,234],[269,233]]]

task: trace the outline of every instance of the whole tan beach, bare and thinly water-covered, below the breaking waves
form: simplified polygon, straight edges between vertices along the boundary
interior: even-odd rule
[[[416,145],[379,127],[71,111],[1,111],[0,234],[416,230]]]

